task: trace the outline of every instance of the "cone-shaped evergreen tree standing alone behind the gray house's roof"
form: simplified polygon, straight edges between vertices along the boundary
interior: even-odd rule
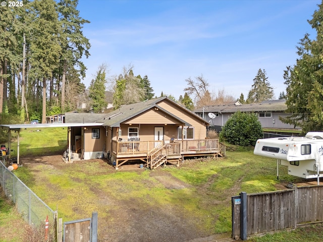
[[[272,100],[273,97],[274,89],[268,82],[266,72],[265,70],[259,69],[248,93],[247,103],[260,103],[262,101]]]

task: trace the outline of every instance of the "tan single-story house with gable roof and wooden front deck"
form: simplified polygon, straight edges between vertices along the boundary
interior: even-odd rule
[[[210,124],[168,97],[110,113],[66,113],[65,122],[79,124],[70,127],[73,151],[82,159],[104,156],[116,169],[133,160],[155,168],[168,162],[179,165],[187,156],[225,155],[218,139],[206,139]]]

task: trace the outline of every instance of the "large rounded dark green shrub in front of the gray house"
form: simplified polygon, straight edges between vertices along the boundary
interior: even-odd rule
[[[227,121],[220,133],[220,140],[233,145],[255,145],[262,138],[262,128],[255,113],[236,112]]]

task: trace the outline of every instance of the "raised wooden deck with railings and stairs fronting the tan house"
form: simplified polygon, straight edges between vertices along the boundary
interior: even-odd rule
[[[219,139],[175,140],[166,144],[163,141],[113,141],[112,149],[116,169],[131,160],[141,160],[153,169],[167,162],[175,161],[179,165],[190,156],[226,156],[226,147]]]

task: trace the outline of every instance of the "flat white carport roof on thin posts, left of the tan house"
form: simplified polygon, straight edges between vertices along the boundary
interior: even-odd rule
[[[8,150],[11,150],[11,132],[18,133],[17,137],[17,164],[19,165],[19,143],[20,143],[20,132],[26,129],[40,129],[40,128],[68,128],[68,146],[69,146],[69,160],[71,157],[71,127],[86,127],[86,126],[101,126],[101,123],[64,123],[64,124],[22,124],[22,125],[0,125],[3,129],[8,129]]]

